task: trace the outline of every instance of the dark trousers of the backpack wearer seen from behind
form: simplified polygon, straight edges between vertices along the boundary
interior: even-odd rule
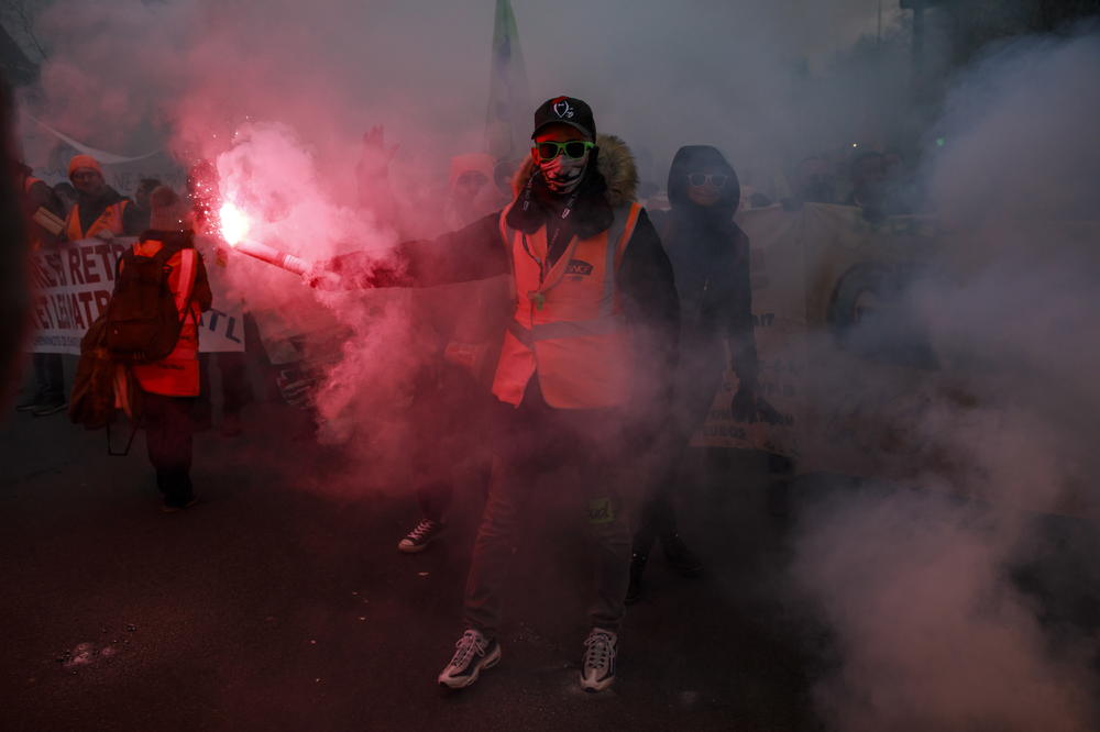
[[[148,462],[156,470],[156,487],[168,506],[184,506],[194,498],[190,475],[194,404],[194,397],[142,392]]]

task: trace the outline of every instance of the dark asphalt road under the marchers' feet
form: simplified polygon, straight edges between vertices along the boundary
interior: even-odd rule
[[[680,523],[706,573],[651,559],[612,689],[576,684],[588,564],[551,511],[517,547],[503,662],[455,694],[435,679],[463,630],[473,480],[448,533],[408,556],[407,487],[358,489],[363,467],[296,436],[286,406],[251,404],[235,437],[199,433],[202,502],[175,514],[143,436],[111,457],[103,432],[65,414],[2,419],[2,730],[825,729],[814,687],[838,662],[787,569],[789,513],[829,487],[800,480],[777,501],[762,455],[692,454]],[[1098,533],[1036,526],[1060,548],[1018,584],[1050,628],[1094,633]]]

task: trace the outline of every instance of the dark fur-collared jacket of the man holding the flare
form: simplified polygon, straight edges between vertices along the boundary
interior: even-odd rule
[[[585,237],[606,231],[613,209],[635,200],[638,174],[630,151],[610,135],[601,135],[597,144],[596,165],[588,166],[565,221],[559,215],[562,201],[546,191],[531,158],[516,175],[517,202],[508,212],[508,225],[535,231],[548,224],[548,239],[553,237],[553,226],[568,226],[558,237],[551,259],[565,249],[570,235]],[[524,211],[521,203],[528,195],[531,204]],[[366,254],[344,255],[330,264],[352,287],[430,287],[512,274],[509,251],[501,237],[499,211],[433,241],[404,243],[389,266]],[[676,363],[680,304],[669,258],[645,211],[623,255],[616,285],[629,322],[649,336],[647,365],[658,374],[663,371],[658,378],[670,379]]]

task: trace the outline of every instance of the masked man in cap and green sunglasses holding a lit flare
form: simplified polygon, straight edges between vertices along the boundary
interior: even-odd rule
[[[308,280],[395,287],[512,276],[513,312],[492,386],[499,402],[493,476],[466,581],[465,632],[438,680],[463,688],[501,659],[514,545],[530,520],[568,497],[593,539],[596,583],[580,683],[598,691],[615,680],[629,579],[630,433],[667,410],[679,301],[657,231],[635,202],[630,152],[617,137],[596,135],[585,102],[556,97],[536,110],[531,155],[516,180],[503,211],[433,242],[403,244],[396,264],[344,255]]]

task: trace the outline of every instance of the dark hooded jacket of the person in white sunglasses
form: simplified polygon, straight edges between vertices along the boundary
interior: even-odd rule
[[[688,197],[692,173],[724,174],[722,198],[701,207]],[[708,145],[681,147],[669,170],[671,211],[658,222],[680,295],[683,359],[721,363],[722,340],[729,343],[734,370],[741,384],[757,380],[749,288],[749,240],[734,223],[740,201],[737,174],[722,153]]]

